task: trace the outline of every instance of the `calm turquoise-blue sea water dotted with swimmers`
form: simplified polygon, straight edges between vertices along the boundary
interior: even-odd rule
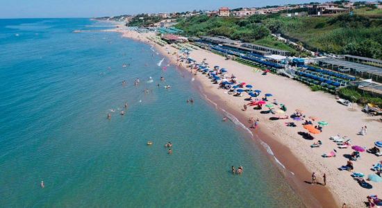
[[[301,206],[251,138],[222,122],[181,69],[163,71],[151,46],[72,33],[108,27],[0,19],[0,207]],[[240,164],[244,174],[232,175]]]

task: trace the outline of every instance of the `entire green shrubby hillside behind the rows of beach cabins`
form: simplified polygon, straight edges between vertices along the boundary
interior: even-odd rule
[[[270,35],[281,33],[312,51],[382,59],[382,19],[363,15],[282,17],[276,14],[252,15],[244,19],[200,15],[178,20],[176,27],[188,35],[224,35],[300,55],[293,46]]]

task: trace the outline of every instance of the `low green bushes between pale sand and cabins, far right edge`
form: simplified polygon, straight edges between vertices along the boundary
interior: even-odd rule
[[[339,94],[342,98],[345,98],[349,101],[353,101],[360,104],[372,103],[374,105],[378,105],[382,107],[382,98],[372,96],[367,92],[360,92],[358,89],[354,89],[352,87],[344,87],[341,88]]]

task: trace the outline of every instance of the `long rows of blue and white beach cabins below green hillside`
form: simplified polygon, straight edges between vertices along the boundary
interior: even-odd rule
[[[310,60],[291,58],[289,51],[242,43],[226,37],[202,36],[191,40],[193,44],[213,53],[232,57],[239,62],[260,69],[269,69],[274,73],[294,78],[307,85],[316,85],[332,93],[335,93],[340,87],[354,86],[357,84],[357,80],[366,78],[369,79],[367,82],[372,84],[367,88],[365,86],[358,87],[360,89],[365,87],[362,89],[382,96],[382,85],[377,83],[382,81],[382,68],[376,67],[376,64],[371,66],[335,58],[313,58]],[[347,56],[344,55],[345,58]],[[380,60],[372,61],[375,63]]]

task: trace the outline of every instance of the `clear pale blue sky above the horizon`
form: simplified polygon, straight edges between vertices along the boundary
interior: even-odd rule
[[[311,0],[313,1],[313,0]],[[321,2],[322,0],[319,0]],[[0,18],[103,17],[138,13],[262,7],[309,0],[0,0]]]

